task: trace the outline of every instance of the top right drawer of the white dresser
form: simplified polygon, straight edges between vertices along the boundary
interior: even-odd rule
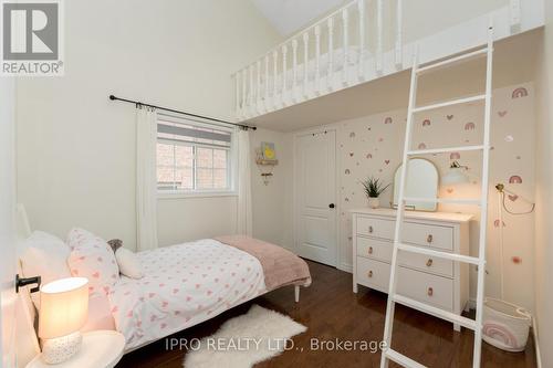
[[[453,250],[453,228],[406,222],[403,230],[406,243]]]

